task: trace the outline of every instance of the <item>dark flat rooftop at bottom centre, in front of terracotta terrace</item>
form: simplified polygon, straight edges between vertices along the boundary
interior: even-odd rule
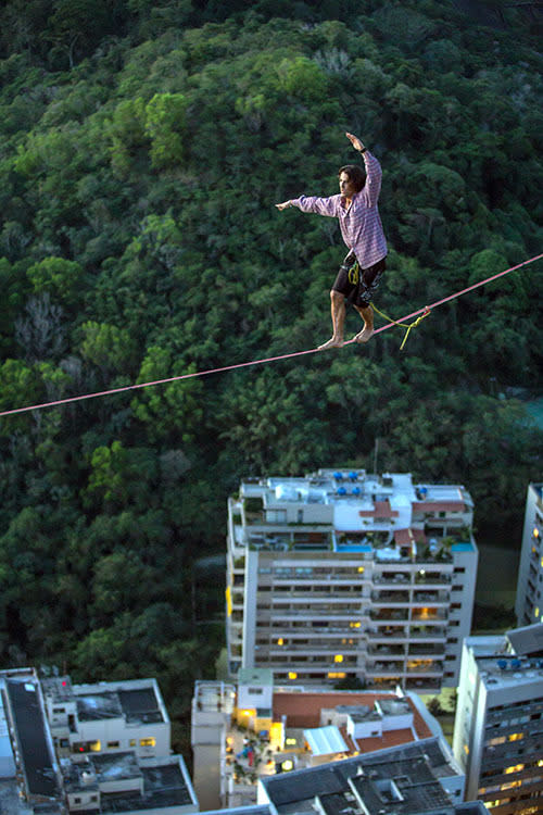
[[[439,740],[430,739],[264,778],[261,783],[280,815],[315,808],[329,815],[421,815],[451,807],[438,772],[456,775]]]

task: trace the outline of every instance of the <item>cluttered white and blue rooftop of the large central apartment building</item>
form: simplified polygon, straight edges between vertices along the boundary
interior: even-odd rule
[[[431,523],[447,515],[451,523],[456,515],[454,542],[466,543],[469,551],[476,551],[470,532],[462,527],[463,523],[470,525],[473,509],[469,492],[462,485],[415,485],[409,473],[377,476],[364,469],[319,469],[305,478],[248,479],[241,484],[240,496],[240,502],[232,506],[240,516],[245,506],[245,529],[250,531],[245,534],[239,524],[235,527],[237,546],[249,543],[255,549],[277,551],[375,551],[381,560],[393,560],[394,553],[400,557],[401,547],[409,548],[409,557],[416,555],[418,544],[424,552],[429,546],[430,553],[434,554],[441,549],[435,537],[439,532],[432,530],[434,537],[427,540],[424,527],[429,519]],[[261,503],[255,504],[255,499]],[[248,503],[250,500],[253,500],[252,505]],[[320,530],[314,530],[311,538],[299,535],[296,539],[295,530],[273,529],[269,524],[280,525],[280,522],[269,519],[267,513],[288,511],[291,504],[320,505],[316,514],[313,513],[313,523],[320,526]],[[306,515],[305,526],[311,526],[312,513]],[[451,529],[447,536],[451,537]]]

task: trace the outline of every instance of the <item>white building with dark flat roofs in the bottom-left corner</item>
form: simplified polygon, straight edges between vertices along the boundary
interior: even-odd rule
[[[0,672],[0,813],[198,812],[182,757],[172,754],[169,737],[164,743],[150,736],[160,730],[146,729],[161,723],[167,714],[152,679],[72,686],[70,677],[40,679],[34,668]],[[128,749],[130,724],[128,743],[137,738]],[[150,738],[156,752],[139,744]]]

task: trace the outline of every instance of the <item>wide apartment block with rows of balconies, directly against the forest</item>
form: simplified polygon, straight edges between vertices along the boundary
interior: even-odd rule
[[[248,479],[228,501],[231,676],[455,686],[471,625],[478,551],[460,485],[320,469]]]

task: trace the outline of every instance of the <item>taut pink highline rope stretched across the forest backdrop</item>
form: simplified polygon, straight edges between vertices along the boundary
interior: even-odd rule
[[[467,288],[462,289],[460,291],[456,291],[454,294],[444,297],[442,300],[438,300],[431,305],[425,305],[422,309],[418,309],[418,311],[414,311],[411,314],[406,314],[405,317],[401,317],[396,322],[400,323],[405,319],[411,319],[412,317],[416,317],[419,314],[428,313],[432,311],[432,309],[437,309],[438,305],[443,305],[443,303],[447,303],[450,300],[454,300],[457,297],[462,297],[462,294],[466,294],[468,291],[478,289],[480,286],[485,286],[488,283],[491,283],[492,280],[497,280],[498,277],[508,275],[510,272],[515,272],[517,268],[521,268],[521,266],[527,266],[529,263],[539,261],[542,258],[543,258],[543,254],[538,254],[534,258],[530,258],[530,260],[528,261],[522,261],[522,263],[518,263],[516,266],[506,268],[504,272],[498,272],[496,275],[487,277],[484,280],[480,280],[479,283],[475,283],[472,286],[468,286]],[[380,328],[376,328],[375,334],[380,334],[381,331],[386,331],[388,328],[391,328],[393,325],[394,323],[387,323]],[[354,342],[354,338],[351,340],[348,340],[345,342],[345,346],[350,346],[352,342]],[[244,368],[244,367],[249,367],[250,365],[264,365],[265,363],[277,362],[278,360],[290,360],[293,356],[303,356],[304,354],[314,354],[314,353],[317,353],[317,351],[318,351],[318,348],[312,348],[307,351],[294,351],[293,353],[289,353],[289,354],[279,354],[279,356],[267,356],[264,360],[253,360],[252,362],[239,362],[236,365],[225,365],[224,367],[220,367],[220,368],[210,368],[209,371],[194,371],[191,374],[181,374],[180,376],[169,376],[166,379],[156,379],[155,381],[152,381],[152,383],[139,383],[138,385],[126,385],[123,388],[112,388],[111,390],[100,390],[94,393],[83,393],[81,396],[78,396],[78,397],[68,397],[67,399],[58,399],[54,402],[43,402],[41,404],[31,404],[26,408],[15,408],[11,411],[0,411],[0,416],[11,416],[14,413],[26,413],[27,411],[37,411],[37,410],[40,410],[41,408],[54,408],[59,404],[68,404],[70,402],[80,402],[84,399],[94,399],[96,397],[106,397],[112,393],[123,393],[124,391],[127,391],[127,390],[138,390],[140,388],[150,388],[153,385],[165,385],[166,383],[176,383],[176,381],[180,381],[181,379],[192,379],[193,377],[197,377],[197,376],[209,376],[210,374],[219,374],[224,371],[233,371],[236,368]]]

